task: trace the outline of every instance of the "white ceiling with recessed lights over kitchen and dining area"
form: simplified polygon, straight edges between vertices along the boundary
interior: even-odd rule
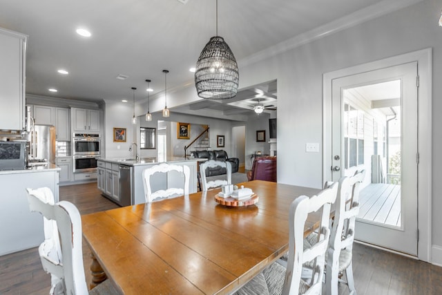
[[[248,57],[337,19],[361,11],[379,15],[383,3],[392,6],[401,1],[220,0],[218,34],[241,66]],[[26,93],[131,102],[133,86],[138,88],[137,99],[146,97],[145,79],[152,80],[153,95],[164,91],[163,69],[170,71],[168,88],[194,83],[189,68],[215,35],[215,0],[2,0],[0,27],[29,36]],[[92,36],[77,35],[80,27]],[[57,73],[60,68],[69,74]],[[118,75],[128,77],[120,80]],[[58,92],[50,93],[48,88]],[[258,97],[260,103],[275,108],[276,81],[243,89],[234,99],[202,101],[189,108],[250,110]]]

